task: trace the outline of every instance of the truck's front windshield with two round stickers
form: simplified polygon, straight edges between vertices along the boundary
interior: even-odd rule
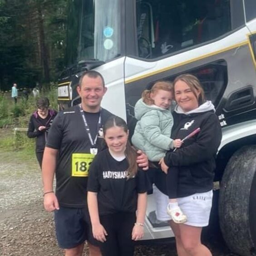
[[[120,1],[70,0],[67,64],[120,55]]]

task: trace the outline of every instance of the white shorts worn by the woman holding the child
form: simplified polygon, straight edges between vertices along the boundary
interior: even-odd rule
[[[189,226],[208,226],[210,212],[212,208],[212,190],[204,193],[196,193],[188,197],[177,198],[177,202],[182,212],[187,216]],[[154,196],[156,200],[156,215],[160,221],[168,221],[172,218],[167,214],[168,197],[154,186]]]

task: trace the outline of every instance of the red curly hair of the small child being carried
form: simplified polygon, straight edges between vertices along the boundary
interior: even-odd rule
[[[172,89],[173,89],[173,85],[172,85],[171,82],[169,82],[169,81],[158,81],[152,86],[151,90],[144,90],[142,95],[141,95],[141,98],[142,98],[142,100],[145,104],[153,105],[154,101],[150,97],[150,94],[155,94],[158,90],[172,92]]]

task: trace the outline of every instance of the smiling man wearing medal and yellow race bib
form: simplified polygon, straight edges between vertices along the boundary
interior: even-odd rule
[[[81,256],[84,241],[90,240],[86,209],[88,167],[95,154],[103,149],[102,126],[113,115],[100,107],[107,91],[101,74],[94,70],[85,72],[77,91],[81,104],[54,119],[42,165],[44,208],[49,212],[56,210],[56,235],[65,256]],[[148,167],[144,154],[137,162],[141,167]],[[55,170],[56,195],[53,192]],[[88,244],[91,256],[101,255],[97,246]]]

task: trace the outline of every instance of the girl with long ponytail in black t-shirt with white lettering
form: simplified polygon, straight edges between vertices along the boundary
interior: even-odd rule
[[[103,126],[108,148],[90,165],[89,215],[103,256],[133,256],[134,241],[143,237],[148,179],[138,169],[128,133],[122,118],[110,117]]]

